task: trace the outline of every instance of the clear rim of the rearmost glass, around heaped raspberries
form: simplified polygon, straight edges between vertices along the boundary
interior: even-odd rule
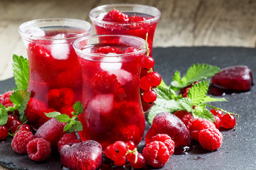
[[[144,21],[136,21],[136,22],[129,22],[129,23],[118,23],[118,22],[112,22],[112,21],[102,21],[102,20],[97,19],[97,17],[92,16],[92,13],[94,13],[95,11],[100,11],[101,9],[106,8],[106,7],[114,8],[114,7],[125,7],[125,6],[129,6],[129,7],[139,6],[141,8],[151,8],[154,11],[157,12],[157,15],[153,16],[153,18],[149,18],[149,19],[146,19]],[[160,16],[161,16],[161,12],[159,11],[158,8],[156,8],[154,6],[143,5],[143,4],[106,4],[106,5],[97,6],[95,8],[92,8],[92,10],[89,12],[89,17],[92,21],[97,21],[98,23],[103,23],[103,24],[107,24],[107,25],[116,25],[116,26],[118,26],[118,25],[128,26],[128,25],[131,25],[132,23],[151,23],[151,22],[159,20]]]

